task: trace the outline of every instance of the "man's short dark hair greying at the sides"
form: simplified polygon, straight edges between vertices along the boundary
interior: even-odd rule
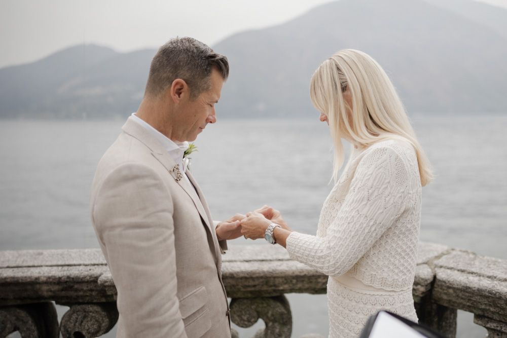
[[[159,48],[153,57],[144,95],[159,97],[176,79],[184,80],[192,99],[211,88],[211,70],[216,69],[227,80],[227,57],[213,52],[192,37],[176,37]]]

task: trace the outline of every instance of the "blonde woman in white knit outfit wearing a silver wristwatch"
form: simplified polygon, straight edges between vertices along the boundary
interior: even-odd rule
[[[241,221],[246,238],[271,238],[328,276],[330,337],[357,337],[367,318],[388,310],[417,321],[412,298],[421,186],[431,168],[389,78],[370,56],[343,50],[310,83],[320,121],[330,127],[335,186],[317,235],[292,231],[270,207]],[[341,138],[352,144],[343,164]]]

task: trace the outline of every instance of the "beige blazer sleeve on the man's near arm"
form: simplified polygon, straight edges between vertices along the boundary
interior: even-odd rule
[[[176,297],[173,203],[162,177],[143,164],[121,165],[92,208],[128,336],[187,337]]]

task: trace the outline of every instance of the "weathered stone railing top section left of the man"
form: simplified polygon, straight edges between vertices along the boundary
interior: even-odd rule
[[[97,283],[108,273],[100,249],[0,251],[0,305],[114,301]]]

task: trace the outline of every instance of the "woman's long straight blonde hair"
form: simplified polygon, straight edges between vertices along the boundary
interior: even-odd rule
[[[433,179],[429,160],[394,86],[369,55],[346,49],[322,62],[310,82],[310,96],[315,108],[328,118],[335,182],[344,161],[342,137],[361,148],[387,139],[408,141],[417,155],[421,185]]]

